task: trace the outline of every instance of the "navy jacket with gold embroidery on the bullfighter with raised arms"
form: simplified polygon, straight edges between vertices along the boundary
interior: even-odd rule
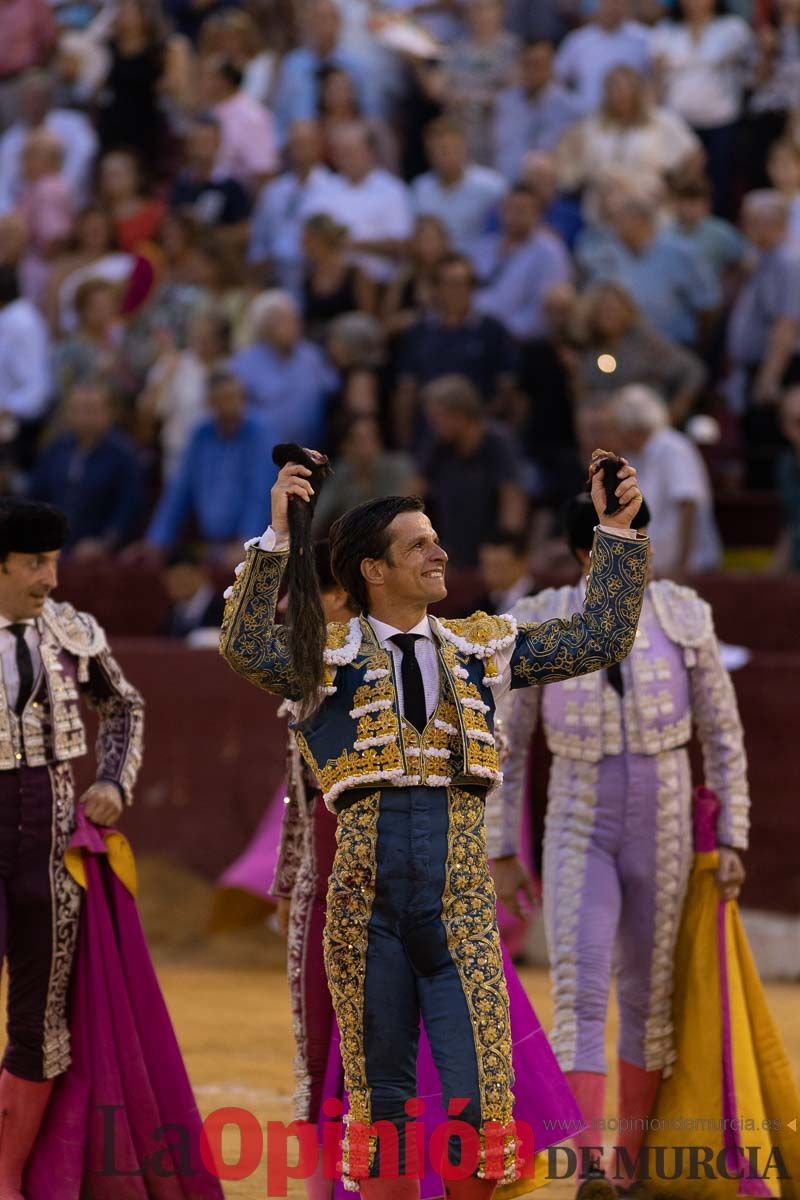
[[[265,691],[300,700],[287,629],[275,607],[287,553],[251,546],[225,605],[219,649],[230,666]],[[570,620],[517,626],[512,617],[475,613],[431,618],[441,692],[422,734],[397,703],[391,654],[369,623],[329,625],[325,696],[295,725],[301,752],[325,803],[350,788],[479,786],[501,779],[494,708],[509,688],[569,679],[618,662],[630,652],[648,570],[646,539],[599,532],[583,612]]]

